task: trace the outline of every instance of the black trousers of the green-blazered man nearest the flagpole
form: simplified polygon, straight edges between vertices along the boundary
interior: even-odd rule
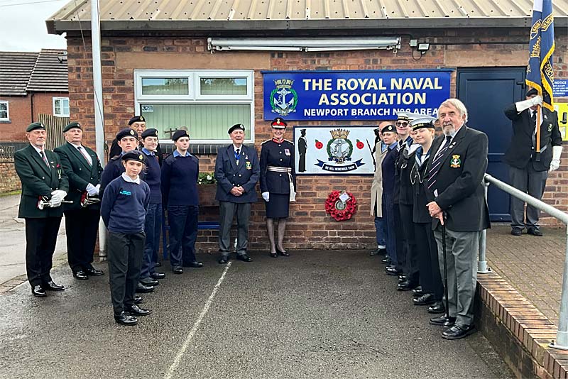
[[[67,261],[74,273],[92,267],[100,216],[99,209],[65,211]]]

